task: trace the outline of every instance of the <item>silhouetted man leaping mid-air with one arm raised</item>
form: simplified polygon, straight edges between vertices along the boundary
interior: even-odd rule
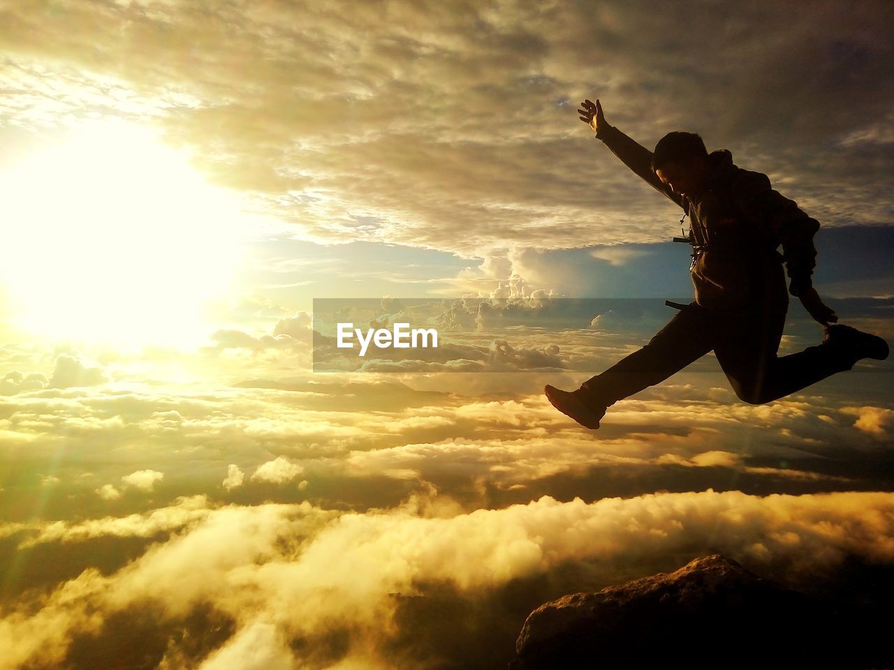
[[[837,323],[823,304],[811,281],[819,223],[771,188],[765,174],[739,168],[727,149],[709,154],[693,133],[668,133],[651,152],[609,125],[599,100],[580,106],[580,119],[596,138],[688,214],[696,299],[679,306],[643,348],[579,389],[547,384],[553,406],[586,428],[599,428],[609,406],[712,350],[738,398],[753,405],[849,370],[861,358],[888,357],[884,339]],[[824,336],[818,346],[777,356],[789,293],[822,324]]]

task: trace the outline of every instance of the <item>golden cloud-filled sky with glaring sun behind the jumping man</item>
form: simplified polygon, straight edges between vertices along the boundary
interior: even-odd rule
[[[505,666],[545,600],[715,551],[881,602],[890,360],[758,406],[709,355],[596,432],[543,387],[692,299],[585,98],[767,174],[894,341],[892,33],[881,1],[0,4],[0,670]],[[444,346],[322,372],[331,306]],[[780,355],[821,339],[792,298]]]

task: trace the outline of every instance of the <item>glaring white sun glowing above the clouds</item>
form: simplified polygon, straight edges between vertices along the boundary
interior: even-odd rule
[[[0,174],[13,327],[119,346],[207,339],[203,310],[240,264],[239,205],[154,130],[81,127]]]

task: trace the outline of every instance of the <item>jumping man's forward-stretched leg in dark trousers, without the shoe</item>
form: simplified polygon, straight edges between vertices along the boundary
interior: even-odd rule
[[[595,405],[610,406],[666,380],[713,348],[707,317],[695,303],[681,309],[643,348],[585,381],[576,393]]]

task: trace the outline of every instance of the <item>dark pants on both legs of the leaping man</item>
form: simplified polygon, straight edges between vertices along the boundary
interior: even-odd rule
[[[785,316],[770,311],[721,312],[691,303],[645,347],[580,388],[595,403],[612,405],[666,380],[713,349],[738,398],[760,405],[853,367],[856,361],[827,345],[776,356]]]

